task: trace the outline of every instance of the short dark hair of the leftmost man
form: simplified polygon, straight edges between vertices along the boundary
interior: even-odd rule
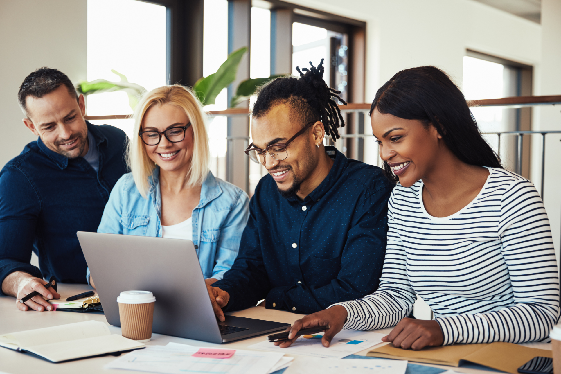
[[[70,79],[68,79],[65,73],[57,69],[41,67],[26,76],[20,86],[20,90],[17,92],[17,100],[25,116],[29,117],[29,112],[27,112],[27,106],[25,105],[27,96],[31,95],[36,98],[42,98],[44,95],[58,89],[60,85],[65,85],[70,96],[75,96],[76,100],[78,100],[78,94]]]

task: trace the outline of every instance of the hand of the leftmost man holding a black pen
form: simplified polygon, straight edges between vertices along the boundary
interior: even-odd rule
[[[42,312],[44,310],[53,310],[53,306],[41,297],[43,295],[47,299],[58,299],[61,297],[54,288],[44,288],[43,285],[47,284],[43,279],[36,278],[31,274],[24,273],[23,271],[14,271],[2,282],[2,291],[11,296],[16,297],[16,307],[19,310],[27,311],[29,308]],[[20,303],[20,299],[31,292],[37,291],[39,295],[27,300],[25,304]]]

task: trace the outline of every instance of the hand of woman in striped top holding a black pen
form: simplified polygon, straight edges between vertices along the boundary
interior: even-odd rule
[[[341,305],[335,305],[334,307],[313,313],[295,321],[294,325],[292,325],[289,329],[290,333],[288,334],[288,340],[280,342],[276,341],[274,344],[280,345],[280,348],[290,347],[298,336],[300,336],[298,335],[298,331],[307,329],[308,327],[329,325],[331,328],[329,330],[325,330],[325,334],[323,334],[323,338],[321,338],[321,344],[323,344],[324,347],[329,347],[331,339],[333,339],[335,334],[341,331],[346,319],[347,310]]]

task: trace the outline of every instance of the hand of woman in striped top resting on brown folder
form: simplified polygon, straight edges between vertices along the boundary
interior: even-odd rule
[[[427,345],[436,347],[444,343],[444,335],[435,320],[403,318],[382,341],[391,341],[394,347],[419,350]]]

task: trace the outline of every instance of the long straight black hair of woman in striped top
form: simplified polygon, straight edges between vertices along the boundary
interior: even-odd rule
[[[403,119],[418,119],[425,126],[432,124],[450,151],[466,164],[502,168],[499,155],[481,136],[462,91],[437,67],[398,72],[376,92],[370,116],[374,109]],[[384,172],[398,181],[385,161]]]

